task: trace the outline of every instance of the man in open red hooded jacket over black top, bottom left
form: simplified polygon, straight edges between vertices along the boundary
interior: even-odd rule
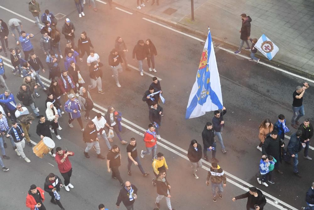
[[[39,210],[46,210],[43,204],[44,201],[44,190],[40,187],[36,187],[35,184],[30,185],[30,190],[26,196],[26,207],[30,208],[30,210],[35,210],[35,207]]]

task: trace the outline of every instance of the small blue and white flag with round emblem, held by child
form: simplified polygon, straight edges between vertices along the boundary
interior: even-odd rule
[[[257,48],[263,55],[265,55],[268,60],[272,60],[276,53],[279,51],[279,48],[268,39],[265,34],[263,34],[254,46]]]

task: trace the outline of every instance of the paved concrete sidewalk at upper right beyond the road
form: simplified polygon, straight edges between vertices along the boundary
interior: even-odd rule
[[[159,6],[152,6],[152,0],[149,1],[145,0],[142,9],[136,8],[136,0],[114,3],[205,36],[209,26],[213,38],[235,46],[234,49],[240,43],[240,14],[246,13],[252,18],[251,38],[258,39],[264,33],[279,47],[273,61],[314,75],[311,0],[194,0],[195,21],[191,21],[190,0],[160,0]]]

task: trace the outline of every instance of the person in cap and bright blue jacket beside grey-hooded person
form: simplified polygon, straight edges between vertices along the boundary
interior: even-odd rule
[[[69,94],[69,99],[65,102],[64,110],[69,113],[69,127],[73,128],[72,122],[77,119],[78,124],[81,127],[81,131],[84,131],[83,122],[81,119],[81,106],[77,99],[75,99],[74,94]]]

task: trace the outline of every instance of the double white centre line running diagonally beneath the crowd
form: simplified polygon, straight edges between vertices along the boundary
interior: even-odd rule
[[[6,58],[3,58],[3,59],[8,60],[8,59],[6,59]],[[13,68],[12,65],[9,65],[9,64],[7,64],[7,63],[4,63],[4,64],[10,66],[11,68]],[[51,82],[49,79],[47,79],[47,78],[45,78],[45,77],[42,77],[42,76],[40,76],[40,77],[41,77],[42,80],[45,80],[46,82]],[[44,82],[43,82],[43,83],[44,83]],[[47,83],[45,83],[45,85],[49,87],[49,85],[48,85]],[[104,110],[104,111],[106,111],[106,112],[108,111],[107,109],[105,109],[104,107],[102,107],[102,106],[100,106],[100,105],[98,105],[98,104],[96,104],[96,103],[94,103],[94,106],[97,107],[97,108],[99,108],[99,109],[102,109],[102,110]],[[105,115],[104,112],[101,112],[101,111],[99,111],[99,110],[97,110],[97,109],[95,109],[95,108],[93,108],[93,111],[98,112],[98,113],[101,113],[102,115]],[[125,122],[127,122],[127,123],[133,125],[134,127],[138,128],[138,129],[140,129],[140,130],[142,130],[142,131],[146,131],[144,128],[142,128],[142,127],[136,125],[136,124],[133,123],[133,122],[128,121],[128,120],[125,119],[125,118],[122,118],[122,121],[125,121]],[[135,130],[134,128],[131,128],[130,126],[128,126],[128,125],[126,125],[126,124],[124,124],[124,123],[121,123],[121,125],[122,125],[123,127],[127,128],[127,129],[133,131],[134,133],[140,135],[140,136],[144,136],[143,133],[141,133],[141,132]],[[177,150],[180,150],[180,151],[182,151],[182,152],[184,152],[184,153],[187,154],[187,151],[184,150],[184,149],[182,149],[181,147],[176,146],[175,144],[172,144],[171,142],[169,142],[169,141],[167,141],[167,140],[165,140],[165,139],[163,139],[163,138],[161,139],[161,141],[163,141],[163,142],[165,142],[166,144],[169,144],[169,145],[173,146],[173,147],[176,148]],[[34,141],[31,140],[31,142],[32,142],[32,144],[36,145],[36,143],[35,143]],[[187,156],[182,155],[180,152],[178,152],[178,151],[176,151],[176,150],[173,150],[172,148],[170,148],[170,147],[167,146],[167,145],[162,144],[160,141],[158,142],[158,145],[160,145],[160,146],[164,147],[165,149],[167,149],[167,150],[169,150],[169,151],[175,153],[175,154],[178,155],[178,156],[181,156],[182,158],[184,158],[184,159],[186,159],[186,160],[189,160]],[[49,152],[49,154],[51,154],[51,152]],[[202,162],[205,163],[205,164],[207,164],[207,165],[209,165],[209,166],[211,166],[211,164],[210,164],[209,162],[207,162],[207,161],[205,161],[205,160],[203,160],[203,159],[202,159]],[[208,168],[208,167],[205,167],[205,166],[203,166],[202,168],[205,169],[205,170],[209,170],[209,168]],[[225,174],[226,174],[227,176],[229,176],[229,177],[231,177],[231,178],[233,178],[233,179],[235,179],[235,180],[241,182],[242,184],[245,184],[245,185],[248,186],[248,187],[252,187],[252,186],[253,186],[253,185],[247,183],[246,181],[244,181],[244,180],[242,180],[242,179],[240,179],[240,178],[238,178],[238,177],[236,177],[236,176],[234,176],[234,175],[232,175],[232,174],[230,174],[230,173],[228,173],[228,172],[226,172],[226,171],[224,171],[224,172],[225,172]],[[240,184],[234,182],[233,180],[228,180],[228,182],[230,182],[231,184],[234,184],[235,186],[241,188],[242,190],[248,191],[248,188],[246,188],[246,187],[244,187],[244,186],[242,186],[242,185],[240,185]],[[290,206],[289,204],[285,203],[284,201],[281,201],[281,200],[277,199],[276,197],[274,197],[274,196],[272,196],[272,195],[270,195],[270,194],[264,192],[263,190],[261,190],[261,191],[263,192],[263,194],[264,194],[265,196],[268,196],[268,197],[271,198],[273,201],[278,201],[280,204],[283,204],[284,206],[289,207],[289,208],[292,209],[292,210],[297,210],[296,208],[294,208],[294,207]],[[279,209],[281,209],[281,210],[284,210],[284,209],[285,209],[284,207],[282,207],[282,206],[280,206],[280,205],[278,205],[278,204],[275,204],[272,200],[267,199],[267,201],[268,201],[269,204],[271,204],[271,205],[273,205],[273,206],[275,206],[275,207],[277,207],[277,208],[279,208]]]

